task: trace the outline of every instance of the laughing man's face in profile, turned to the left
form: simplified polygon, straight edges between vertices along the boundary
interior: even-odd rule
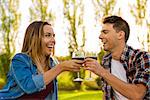
[[[117,32],[113,28],[113,24],[106,23],[102,25],[102,30],[99,39],[101,39],[105,51],[112,52],[113,49],[117,47]]]

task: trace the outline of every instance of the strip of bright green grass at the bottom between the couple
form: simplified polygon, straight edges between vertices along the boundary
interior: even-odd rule
[[[102,100],[101,91],[60,91],[59,100]]]

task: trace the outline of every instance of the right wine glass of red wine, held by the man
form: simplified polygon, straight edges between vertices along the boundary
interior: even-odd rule
[[[97,60],[97,53],[86,52],[85,53],[85,57]],[[85,80],[87,80],[87,81],[94,81],[94,79],[92,78],[92,72],[91,71],[88,71],[88,72],[89,72],[89,76]]]

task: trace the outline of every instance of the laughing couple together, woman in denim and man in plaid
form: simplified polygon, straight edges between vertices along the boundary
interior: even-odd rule
[[[103,57],[102,65],[92,58],[56,65],[51,58],[55,46],[51,24],[31,23],[26,29],[21,53],[12,58],[0,99],[58,100],[56,77],[63,71],[78,72],[84,63],[86,70],[102,77],[103,99],[149,100],[150,54],[128,46],[129,33],[129,25],[124,19],[108,16],[103,20],[99,36],[104,50],[109,52]]]

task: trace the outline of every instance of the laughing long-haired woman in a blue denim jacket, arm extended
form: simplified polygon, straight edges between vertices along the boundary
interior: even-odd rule
[[[83,61],[70,60],[55,65],[50,57],[54,46],[52,26],[42,21],[31,23],[26,29],[22,52],[12,59],[0,99],[57,100],[57,75],[63,71],[79,71]]]

